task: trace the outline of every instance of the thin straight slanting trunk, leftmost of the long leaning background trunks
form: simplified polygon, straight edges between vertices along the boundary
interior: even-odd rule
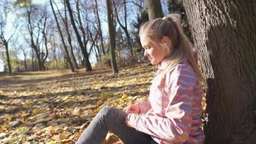
[[[69,63],[69,67],[70,67],[70,69],[71,69],[72,72],[75,72],[75,69],[74,69],[73,64],[72,64],[72,62],[71,62],[71,59],[70,59],[70,57],[69,57],[69,52],[67,51],[67,45],[65,44],[65,41],[64,41],[64,38],[63,38],[63,35],[62,35],[62,32],[61,32],[61,28],[60,28],[60,26],[59,26],[59,22],[58,22],[58,19],[57,19],[57,17],[56,17],[55,11],[54,11],[54,9],[53,9],[53,4],[52,4],[52,1],[51,1],[51,0],[50,0],[50,4],[51,4],[52,11],[53,11],[53,16],[54,16],[54,18],[55,18],[55,21],[56,21],[56,24],[57,24],[57,27],[58,27],[58,30],[59,30],[59,34],[60,34],[60,36],[61,36],[61,41],[62,41],[64,50],[65,50],[65,53],[66,53],[66,55],[67,55],[67,61],[68,61],[68,63]]]

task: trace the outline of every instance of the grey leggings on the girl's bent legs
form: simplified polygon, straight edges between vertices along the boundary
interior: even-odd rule
[[[125,124],[128,113],[112,107],[104,107],[93,118],[76,144],[101,144],[107,132],[117,135],[125,144],[157,144],[151,136]]]

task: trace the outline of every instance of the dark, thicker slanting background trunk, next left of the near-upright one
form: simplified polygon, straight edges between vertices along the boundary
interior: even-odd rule
[[[86,71],[92,71],[92,67],[91,67],[91,63],[89,61],[89,56],[88,56],[88,53],[87,53],[87,50],[86,50],[86,47],[83,45],[83,42],[81,40],[81,37],[79,35],[79,32],[77,30],[77,27],[75,25],[75,19],[73,17],[73,13],[72,13],[72,9],[70,7],[70,4],[69,4],[69,0],[65,0],[66,4],[67,4],[67,9],[69,11],[69,16],[70,16],[70,21],[71,21],[71,24],[72,24],[72,27],[75,31],[75,35],[77,36],[77,41],[79,43],[79,46],[81,48],[81,51],[83,53],[83,56],[84,56],[84,59],[85,59],[85,67],[86,67]],[[82,31],[83,32],[83,31]]]

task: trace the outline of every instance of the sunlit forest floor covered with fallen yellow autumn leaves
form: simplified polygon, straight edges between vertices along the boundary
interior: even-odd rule
[[[102,107],[147,100],[155,66],[0,73],[0,143],[70,144]],[[205,97],[203,97],[205,109]],[[204,112],[204,111],[203,111]],[[122,143],[108,133],[104,144]]]

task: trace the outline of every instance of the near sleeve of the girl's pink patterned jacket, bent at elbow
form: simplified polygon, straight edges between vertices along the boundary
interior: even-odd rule
[[[166,83],[169,99],[164,111],[166,117],[139,115],[136,118],[136,130],[169,141],[186,141],[192,123],[195,82],[195,73],[178,64],[169,74],[169,83]]]

